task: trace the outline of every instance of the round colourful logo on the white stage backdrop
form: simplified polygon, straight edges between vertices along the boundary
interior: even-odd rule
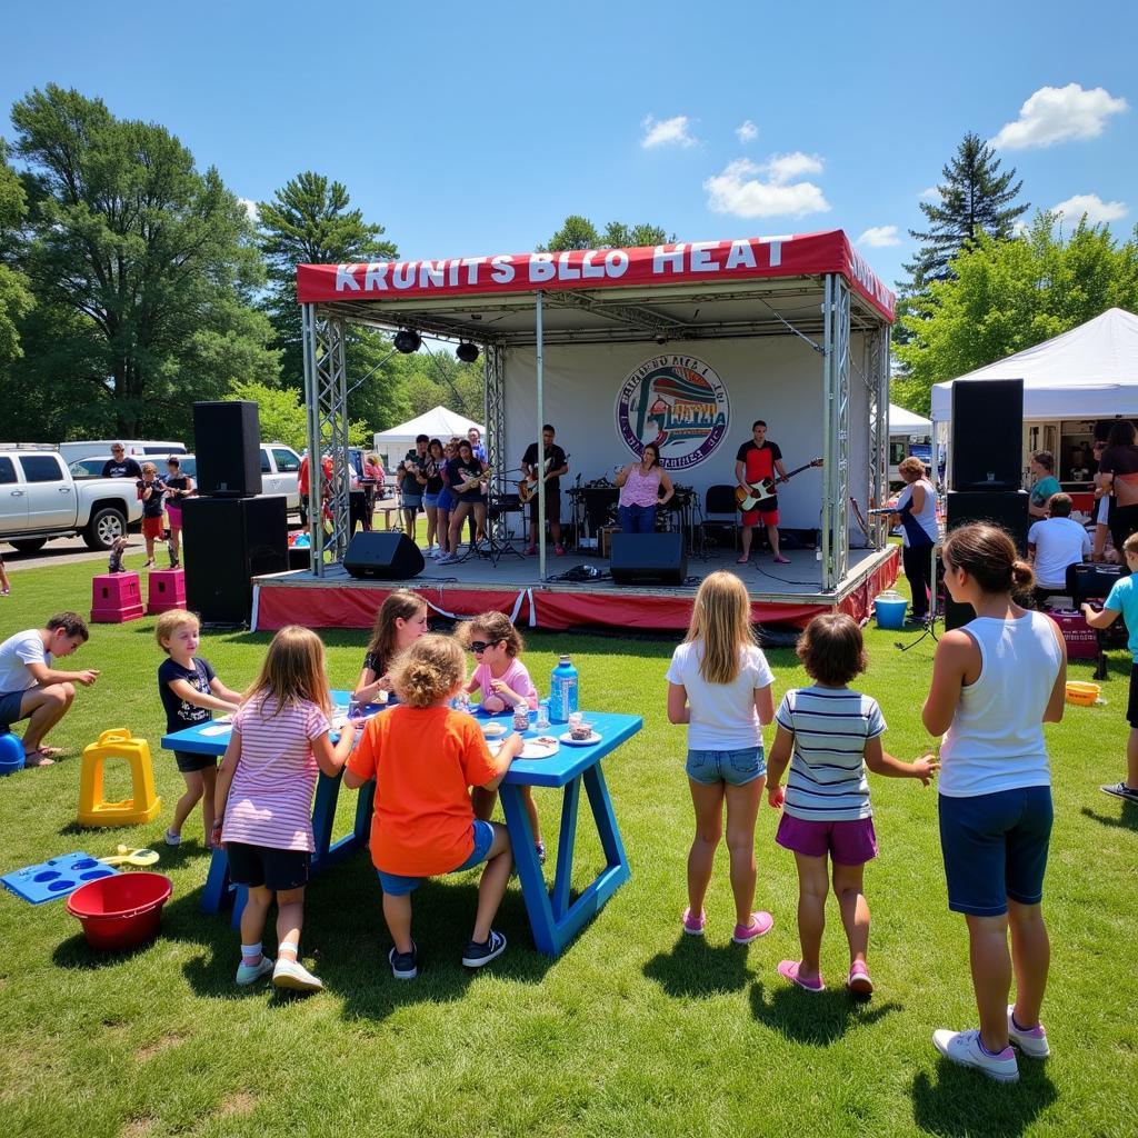
[[[660,355],[632,371],[617,395],[617,429],[628,450],[660,448],[665,470],[687,470],[710,457],[727,434],[731,402],[709,364]]]

